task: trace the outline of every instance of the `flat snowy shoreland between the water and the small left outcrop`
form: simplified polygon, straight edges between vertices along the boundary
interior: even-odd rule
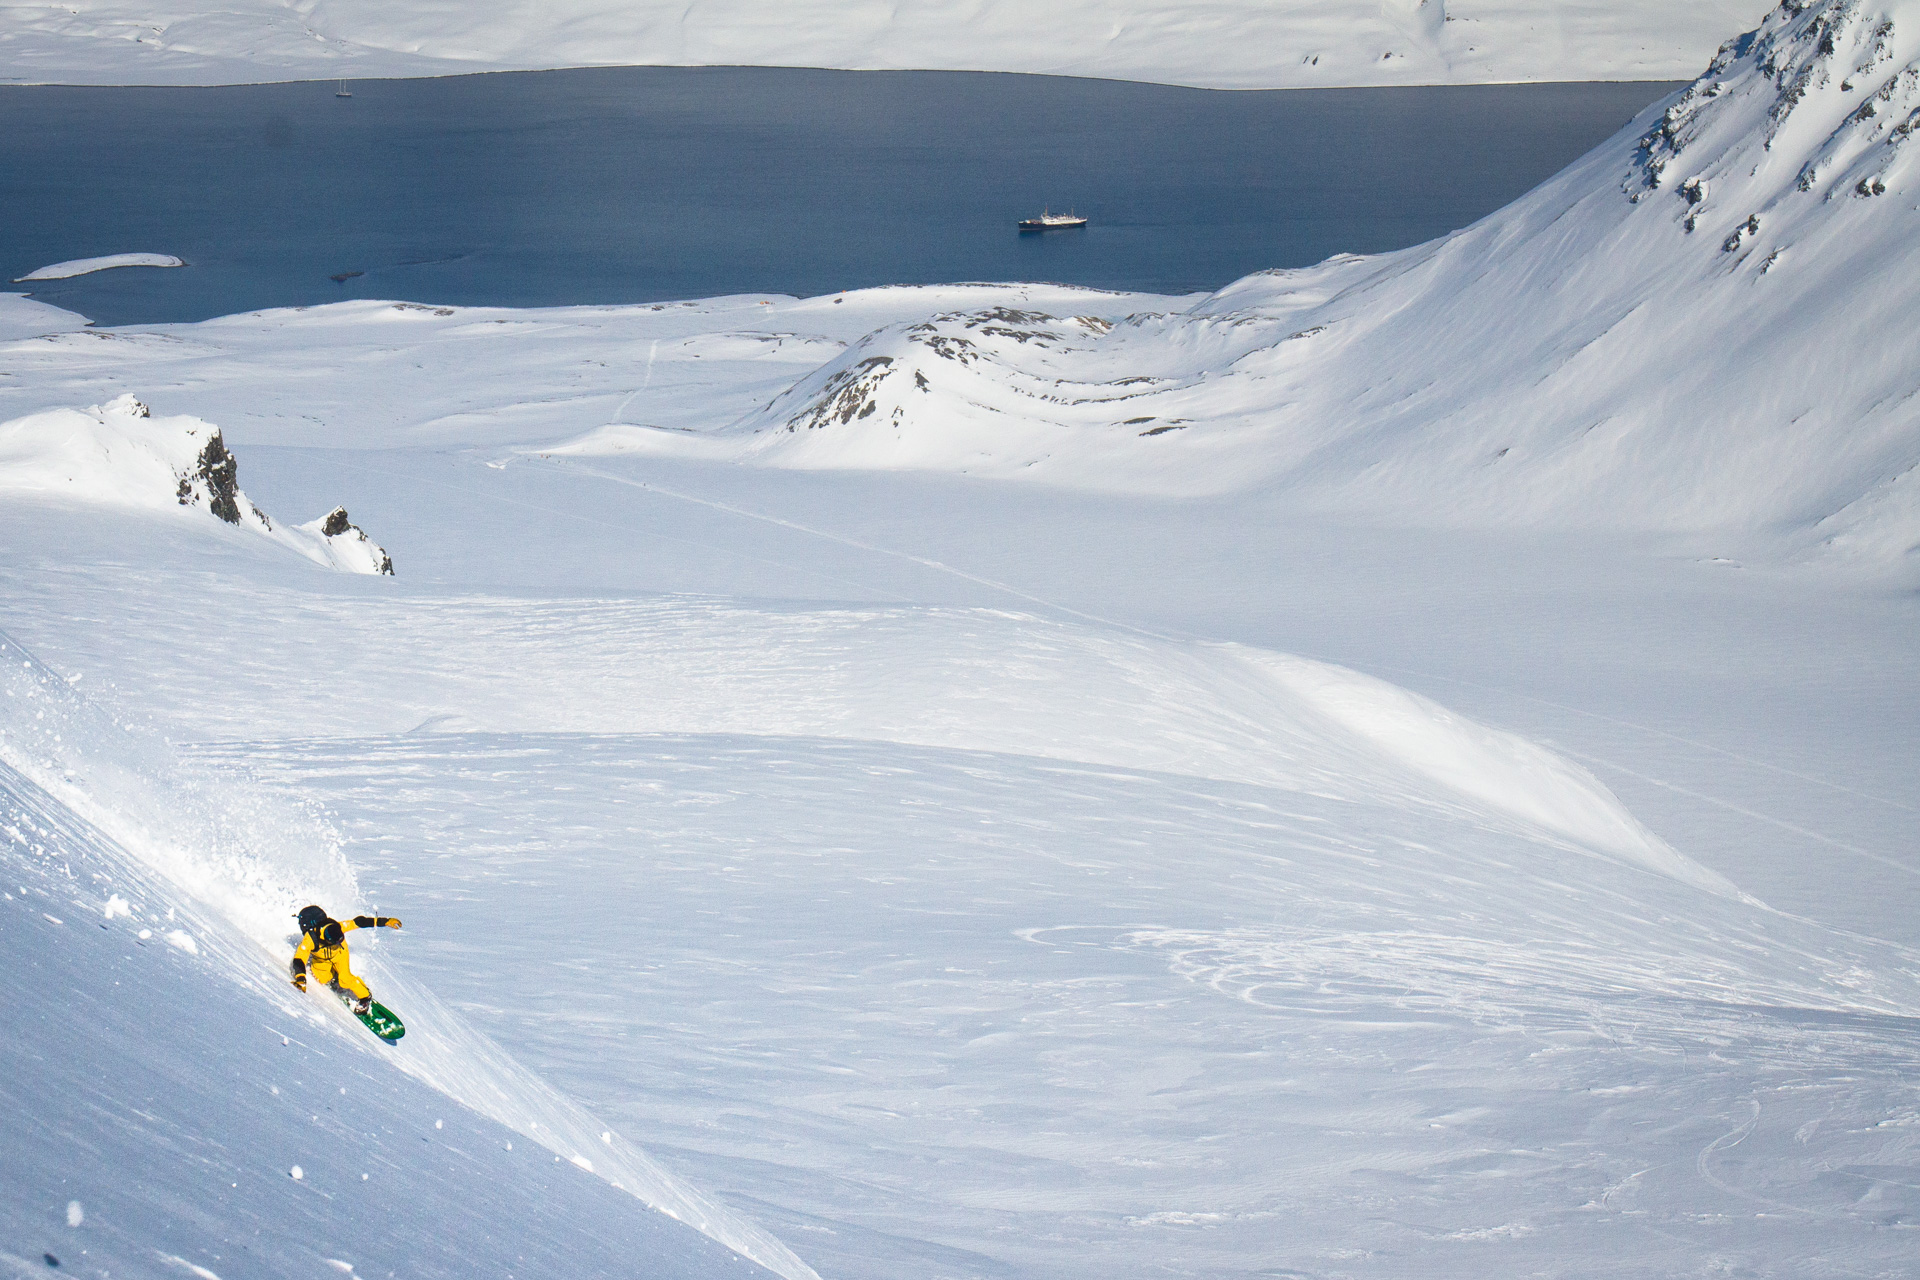
[[[13,297],[0,294],[0,299]],[[1198,301],[1054,284],[770,294],[628,307],[349,301],[202,324],[86,328],[17,297],[0,418],[138,395],[215,422],[234,447],[561,441],[599,426],[674,436],[730,422],[874,328],[929,311],[1023,307],[1123,319]],[[0,330],[4,332],[4,330]],[[714,441],[716,453],[735,445]]]

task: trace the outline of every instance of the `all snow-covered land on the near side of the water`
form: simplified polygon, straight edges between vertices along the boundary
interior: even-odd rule
[[[1208,297],[0,296],[0,1257],[1901,1274],[1916,35]]]

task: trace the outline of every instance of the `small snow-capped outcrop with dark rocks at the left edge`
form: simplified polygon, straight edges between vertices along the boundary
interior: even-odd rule
[[[275,526],[248,501],[221,428],[186,415],[156,418],[132,395],[0,422],[0,493],[63,505],[204,510],[348,574],[392,574],[394,560],[336,507]]]

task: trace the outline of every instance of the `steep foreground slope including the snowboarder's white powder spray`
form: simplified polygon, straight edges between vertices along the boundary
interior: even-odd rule
[[[0,656],[13,1272],[772,1274],[755,1255],[810,1276],[624,1142],[566,1132],[576,1107],[371,954],[424,1042],[380,1046],[294,994],[263,935],[292,900],[357,900],[338,841],[298,804],[169,764],[4,637]],[[484,1090],[447,1088],[449,1046]],[[561,1132],[528,1140],[534,1117]]]

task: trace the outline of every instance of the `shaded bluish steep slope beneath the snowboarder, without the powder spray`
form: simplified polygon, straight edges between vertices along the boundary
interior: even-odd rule
[[[768,1274],[234,986],[217,925],[6,766],[0,823],[6,1274]]]

